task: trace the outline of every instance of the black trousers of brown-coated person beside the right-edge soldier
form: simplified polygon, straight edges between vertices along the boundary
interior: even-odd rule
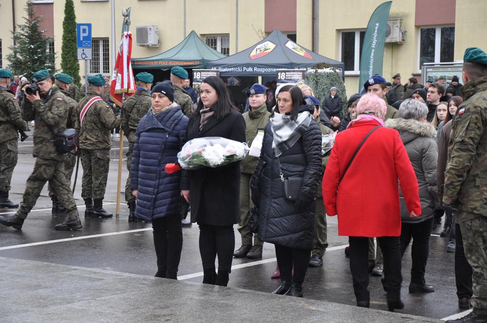
[[[463,248],[462,232],[460,226],[455,223],[456,231],[456,245],[455,245],[455,283],[457,286],[457,296],[472,297],[472,267],[465,258],[465,250]]]

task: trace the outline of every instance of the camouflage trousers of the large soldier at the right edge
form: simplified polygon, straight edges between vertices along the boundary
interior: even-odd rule
[[[465,219],[467,218],[467,219]],[[472,266],[473,311],[487,314],[487,216],[459,211],[458,225],[462,233],[465,257]],[[465,220],[463,220],[465,219]],[[463,220],[463,221],[462,221]]]

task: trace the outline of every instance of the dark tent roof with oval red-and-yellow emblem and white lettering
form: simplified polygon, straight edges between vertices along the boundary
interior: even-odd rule
[[[279,30],[246,50],[208,62],[208,69],[220,70],[221,76],[275,75],[279,69],[305,69],[328,63],[344,71],[342,62],[316,54],[296,44]]]

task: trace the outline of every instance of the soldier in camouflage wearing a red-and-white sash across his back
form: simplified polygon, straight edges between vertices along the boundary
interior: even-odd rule
[[[120,115],[102,100],[105,80],[101,74],[88,77],[88,93],[76,111],[76,133],[79,134],[83,179],[81,197],[85,200],[85,216],[111,217],[103,209],[107,187],[112,138],[110,131],[120,126]]]

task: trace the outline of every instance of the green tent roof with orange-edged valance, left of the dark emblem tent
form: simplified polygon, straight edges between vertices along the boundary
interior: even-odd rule
[[[206,45],[198,34],[192,30],[182,42],[164,53],[145,57],[132,58],[132,69],[170,69],[174,66],[183,68],[205,68],[208,61],[226,57]]]

